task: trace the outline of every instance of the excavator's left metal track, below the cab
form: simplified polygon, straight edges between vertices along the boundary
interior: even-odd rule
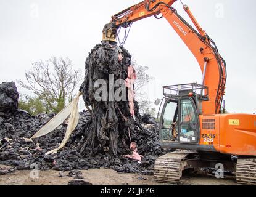
[[[155,161],[154,177],[156,182],[181,184],[184,161],[192,152],[175,151],[160,156]]]

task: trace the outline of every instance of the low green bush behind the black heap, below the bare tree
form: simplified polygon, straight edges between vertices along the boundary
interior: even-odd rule
[[[19,108],[28,111],[32,116],[40,113],[50,113],[49,107],[43,103],[43,100],[38,97],[26,96],[25,99],[20,98]]]

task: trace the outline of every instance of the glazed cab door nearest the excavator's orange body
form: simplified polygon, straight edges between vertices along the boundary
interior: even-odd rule
[[[192,98],[181,98],[178,140],[180,143],[199,143],[200,124],[197,108]]]

